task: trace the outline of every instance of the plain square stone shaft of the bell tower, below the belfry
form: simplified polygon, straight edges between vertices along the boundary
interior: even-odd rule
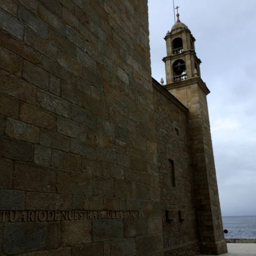
[[[209,90],[199,77],[174,84],[173,88],[169,86],[168,90],[189,109],[189,135],[201,253],[225,253],[227,247],[221,219],[206,99]]]

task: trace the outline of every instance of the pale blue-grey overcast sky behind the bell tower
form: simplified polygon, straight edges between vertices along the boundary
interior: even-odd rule
[[[256,1],[175,0],[202,60],[222,216],[256,215]],[[165,81],[172,0],[148,0],[152,76]]]

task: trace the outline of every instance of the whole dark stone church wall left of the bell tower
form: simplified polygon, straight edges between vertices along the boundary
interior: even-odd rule
[[[0,254],[199,253],[189,106],[152,82],[147,1],[0,7]]]

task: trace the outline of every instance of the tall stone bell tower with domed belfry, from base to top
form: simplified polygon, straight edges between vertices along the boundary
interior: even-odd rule
[[[195,38],[188,27],[177,22],[164,37],[167,56],[165,88],[189,110],[188,127],[194,169],[195,204],[202,254],[227,252],[212,151],[206,95],[210,92],[201,79],[200,63],[195,51]]]

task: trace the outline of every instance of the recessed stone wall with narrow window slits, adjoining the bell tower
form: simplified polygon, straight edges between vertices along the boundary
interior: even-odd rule
[[[199,241],[188,110],[156,82],[154,89],[165,255],[195,255],[199,251]],[[169,220],[166,220],[166,211]],[[179,211],[182,217],[179,216]],[[180,254],[181,248],[183,254]],[[187,254],[184,254],[185,251]]]

